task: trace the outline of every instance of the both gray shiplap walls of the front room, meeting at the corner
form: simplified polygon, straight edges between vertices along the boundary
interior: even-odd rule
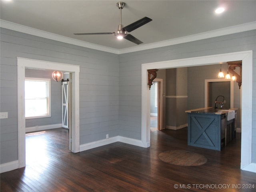
[[[0,163],[18,159],[16,57],[80,66],[80,144],[85,144],[106,134],[141,139],[141,64],[244,50],[253,50],[252,162],[256,162],[255,41],[252,30],[116,55],[1,28],[0,111],[8,112],[8,119],[0,121]]]

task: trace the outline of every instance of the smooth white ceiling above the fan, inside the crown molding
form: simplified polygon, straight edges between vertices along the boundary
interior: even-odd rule
[[[113,34],[76,36],[74,33],[114,32],[120,22],[118,0],[1,0],[1,27],[15,23],[50,34],[104,46],[114,50],[136,48]],[[183,37],[233,33],[256,28],[256,0],[124,0],[122,24],[145,16],[151,22],[130,32],[144,42],[139,47]],[[218,6],[226,11],[215,14]],[[7,28],[7,27],[6,27]],[[224,33],[222,33],[224,32]],[[199,35],[198,35],[199,34]]]

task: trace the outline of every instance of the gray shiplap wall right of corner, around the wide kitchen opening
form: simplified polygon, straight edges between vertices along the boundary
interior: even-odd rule
[[[121,54],[119,64],[120,136],[141,138],[141,64],[245,50],[253,50],[252,162],[256,162],[256,30]],[[127,97],[124,93],[129,91],[132,92],[130,97]],[[203,96],[204,92],[198,92],[198,94]],[[199,105],[196,104],[196,106]]]

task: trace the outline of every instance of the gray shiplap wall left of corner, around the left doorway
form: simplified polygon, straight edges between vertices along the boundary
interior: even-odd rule
[[[17,57],[80,66],[80,144],[118,135],[118,55],[4,28],[0,47],[1,164],[18,159]]]

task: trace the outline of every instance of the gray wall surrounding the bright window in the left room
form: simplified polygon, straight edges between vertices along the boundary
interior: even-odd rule
[[[48,70],[25,70],[25,77],[51,79],[51,117],[26,119],[26,127],[61,124],[61,82],[52,79],[52,72]]]

